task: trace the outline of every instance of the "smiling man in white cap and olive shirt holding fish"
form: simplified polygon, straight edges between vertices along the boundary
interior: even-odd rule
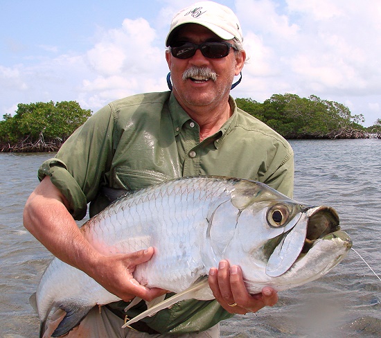
[[[153,248],[103,256],[83,238],[74,219],[85,216],[88,202],[91,216],[109,204],[104,187],[136,190],[177,177],[224,175],[263,181],[292,195],[290,145],[237,109],[229,96],[245,64],[242,40],[240,23],[225,6],[205,1],[181,10],[166,39],[172,91],[110,103],[39,169],[41,183],[24,211],[26,228],[55,256],[123,301],[135,296],[150,301],[166,291],[143,287],[132,276]],[[209,285],[216,301],[180,302],[144,319],[137,331],[121,329],[125,302],[94,308],[69,337],[161,337],[168,331],[179,337],[219,337],[220,320],[278,300],[271,287],[248,294],[240,268],[225,260],[211,269]],[[134,317],[143,307],[136,305],[127,315]],[[58,323],[62,311],[53,314],[51,327],[54,319]],[[45,337],[53,330],[48,328]]]

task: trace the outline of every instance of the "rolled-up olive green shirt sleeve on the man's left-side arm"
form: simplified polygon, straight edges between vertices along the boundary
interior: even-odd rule
[[[69,202],[69,212],[81,220],[109,170],[113,152],[114,117],[109,105],[100,109],[74,132],[53,159],[38,171],[42,180],[50,176]]]

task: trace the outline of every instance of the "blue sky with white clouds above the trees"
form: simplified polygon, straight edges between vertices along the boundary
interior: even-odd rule
[[[319,96],[381,118],[381,1],[221,0],[249,60],[234,98]],[[0,0],[0,118],[17,104],[76,100],[96,112],[166,91],[165,39],[186,0]]]

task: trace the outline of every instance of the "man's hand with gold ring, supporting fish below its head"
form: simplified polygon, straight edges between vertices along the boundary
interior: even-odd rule
[[[218,303],[230,313],[257,312],[265,306],[274,306],[278,301],[278,294],[272,287],[263,287],[261,294],[249,294],[242,270],[236,265],[229,267],[227,260],[221,260],[218,269],[210,269],[209,286]]]

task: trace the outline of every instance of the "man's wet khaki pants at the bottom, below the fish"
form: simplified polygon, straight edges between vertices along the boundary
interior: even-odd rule
[[[82,319],[80,325],[63,335],[64,338],[218,338],[220,337],[220,326],[216,325],[209,330],[200,333],[186,333],[183,335],[149,335],[145,332],[138,332],[130,328],[122,328],[124,322],[107,308],[92,308],[87,316]],[[48,328],[44,333],[44,338],[50,338],[51,334],[62,321],[66,312],[57,310],[48,321]]]

